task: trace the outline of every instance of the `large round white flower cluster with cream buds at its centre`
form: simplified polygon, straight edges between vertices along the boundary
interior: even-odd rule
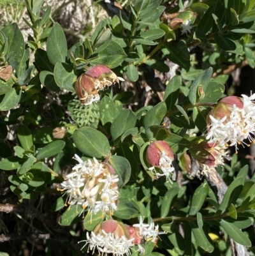
[[[61,183],[63,190],[68,193],[68,204],[77,204],[83,209],[88,207],[91,213],[100,210],[112,213],[117,209],[119,200],[118,176],[111,174],[96,158],[84,162],[75,154],[75,160],[79,163]]]

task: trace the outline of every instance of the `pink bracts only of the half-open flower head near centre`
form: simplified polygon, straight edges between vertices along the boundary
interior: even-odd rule
[[[146,159],[152,166],[159,166],[159,160],[162,153],[165,153],[171,160],[173,160],[173,151],[171,147],[164,140],[157,140],[149,145],[146,153]]]

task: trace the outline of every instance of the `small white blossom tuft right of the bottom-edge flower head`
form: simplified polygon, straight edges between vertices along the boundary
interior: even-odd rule
[[[156,241],[157,236],[160,234],[165,234],[165,232],[159,232],[159,225],[155,226],[154,222],[150,224],[144,224],[142,216],[140,216],[140,222],[138,224],[134,224],[133,227],[139,228],[140,236],[144,237],[145,240],[152,237],[153,243]]]

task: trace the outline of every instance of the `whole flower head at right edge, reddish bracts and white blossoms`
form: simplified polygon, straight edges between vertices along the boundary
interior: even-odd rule
[[[229,96],[220,100],[207,116],[208,143],[220,146],[245,144],[255,134],[255,94],[243,98]]]

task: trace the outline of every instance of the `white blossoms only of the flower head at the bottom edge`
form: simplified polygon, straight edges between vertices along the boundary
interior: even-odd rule
[[[106,233],[104,230],[101,230],[102,234],[94,234],[91,232],[91,236],[89,236],[89,232],[87,232],[87,240],[85,240],[85,245],[82,249],[89,243],[88,250],[92,250],[94,254],[95,248],[98,249],[99,252],[102,253],[102,256],[107,253],[112,253],[113,255],[123,256],[130,255],[130,247],[135,246],[132,239],[128,239],[126,236],[116,237],[114,233]],[[83,242],[83,241],[81,241]]]

